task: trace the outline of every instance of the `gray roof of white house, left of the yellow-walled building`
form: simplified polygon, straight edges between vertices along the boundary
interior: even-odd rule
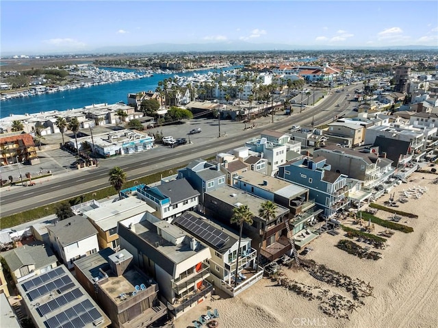
[[[90,221],[79,215],[58,221],[47,229],[59,238],[63,247],[97,234],[96,228]]]

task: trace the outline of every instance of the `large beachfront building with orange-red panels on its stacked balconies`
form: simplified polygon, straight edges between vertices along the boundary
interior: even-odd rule
[[[181,316],[211,294],[209,248],[179,227],[148,216],[119,222],[118,235],[133,264],[157,281],[171,316]]]

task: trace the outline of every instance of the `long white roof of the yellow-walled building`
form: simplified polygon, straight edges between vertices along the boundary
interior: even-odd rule
[[[108,231],[117,227],[118,221],[146,212],[153,213],[155,210],[141,199],[127,197],[114,203],[105,204],[94,210],[83,212],[83,215],[87,216],[103,231]]]

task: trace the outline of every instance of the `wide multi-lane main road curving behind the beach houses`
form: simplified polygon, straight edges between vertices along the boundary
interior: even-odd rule
[[[345,91],[326,96],[323,101],[320,101],[314,107],[306,107],[298,114],[286,116],[284,119],[269,125],[240,131],[239,134],[210,138],[204,144],[188,144],[181,148],[169,149],[169,151],[161,152],[161,154],[159,152],[154,154],[153,151],[149,151],[133,154],[129,157],[130,160],[118,157],[109,161],[116,161],[116,165],[123,168],[127,173],[129,180],[172,170],[175,166],[183,166],[196,158],[211,157],[217,153],[241,147],[245,140],[260,136],[261,131],[267,128],[277,131],[289,131],[292,122],[294,125],[311,125],[313,122],[314,126],[329,123],[333,121],[335,116],[341,116],[348,110],[346,94],[354,88],[355,86],[345,88]],[[300,110],[299,105],[296,110]],[[102,165],[98,168],[74,171],[68,175],[57,176],[41,185],[19,188],[11,192],[4,191],[3,188],[1,192],[1,216],[4,217],[34,207],[70,199],[109,186],[109,168],[105,167],[105,161],[107,160],[101,161]]]

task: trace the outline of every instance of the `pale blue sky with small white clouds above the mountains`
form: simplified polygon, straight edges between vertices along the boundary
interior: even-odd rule
[[[162,42],[438,47],[435,0],[1,0],[0,15],[1,53],[85,53]]]

